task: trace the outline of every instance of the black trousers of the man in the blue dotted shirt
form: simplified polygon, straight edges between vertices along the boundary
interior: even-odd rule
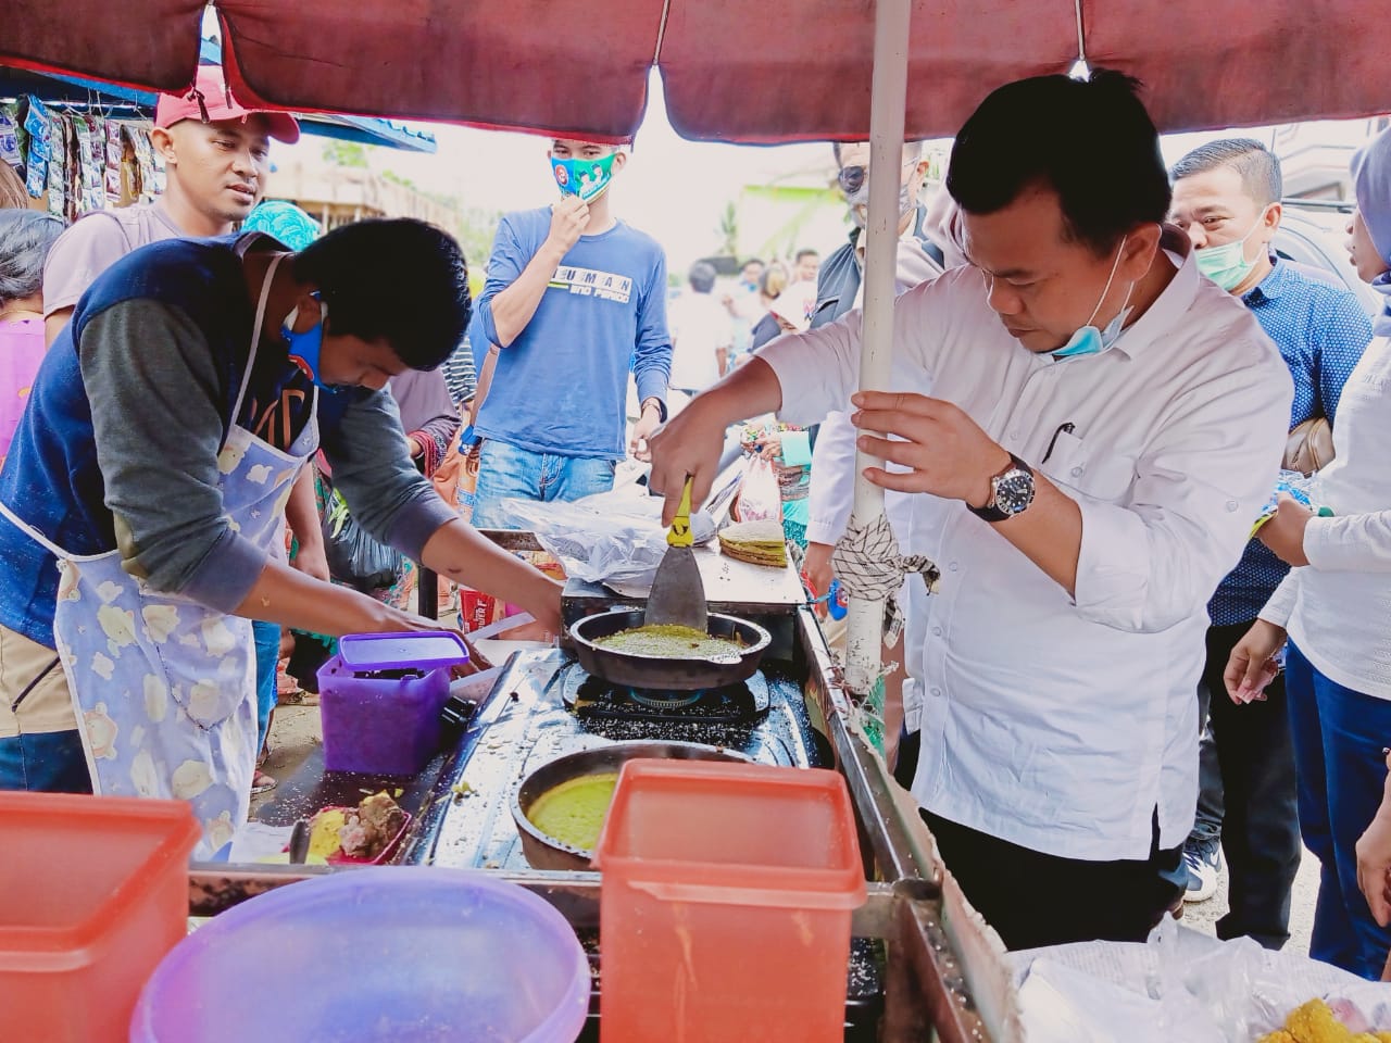
[[[1198,686],[1198,719],[1207,727],[1198,755],[1193,839],[1221,836],[1231,911],[1217,937],[1249,936],[1266,948],[1289,939],[1289,893],[1299,871],[1295,752],[1285,677],[1266,687],[1264,702],[1238,706],[1221,674],[1249,623],[1209,627],[1207,662]]]

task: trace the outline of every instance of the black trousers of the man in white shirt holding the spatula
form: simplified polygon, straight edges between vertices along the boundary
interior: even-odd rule
[[[1086,862],[1034,851],[929,811],[922,818],[967,900],[1007,948],[1066,941],[1143,941],[1182,894],[1182,846],[1148,859]]]

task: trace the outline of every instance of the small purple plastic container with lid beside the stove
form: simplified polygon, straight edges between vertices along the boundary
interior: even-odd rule
[[[319,668],[324,768],[363,775],[415,775],[440,748],[440,709],[449,668],[469,661],[448,630],[348,634]],[[417,677],[374,674],[419,670]]]

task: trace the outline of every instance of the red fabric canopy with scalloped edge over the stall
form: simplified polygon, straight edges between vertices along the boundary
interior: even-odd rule
[[[0,63],[186,88],[203,0],[7,0]],[[655,64],[672,125],[736,142],[864,138],[874,0],[218,0],[234,92],[626,139]],[[1164,131],[1388,106],[1391,18],[1365,0],[914,0],[910,136],[1079,58],[1143,81]]]

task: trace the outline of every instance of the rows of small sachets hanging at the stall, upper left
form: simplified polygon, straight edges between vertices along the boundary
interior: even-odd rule
[[[58,110],[33,96],[0,103],[0,161],[42,200],[36,207],[68,221],[164,192],[149,124]]]

